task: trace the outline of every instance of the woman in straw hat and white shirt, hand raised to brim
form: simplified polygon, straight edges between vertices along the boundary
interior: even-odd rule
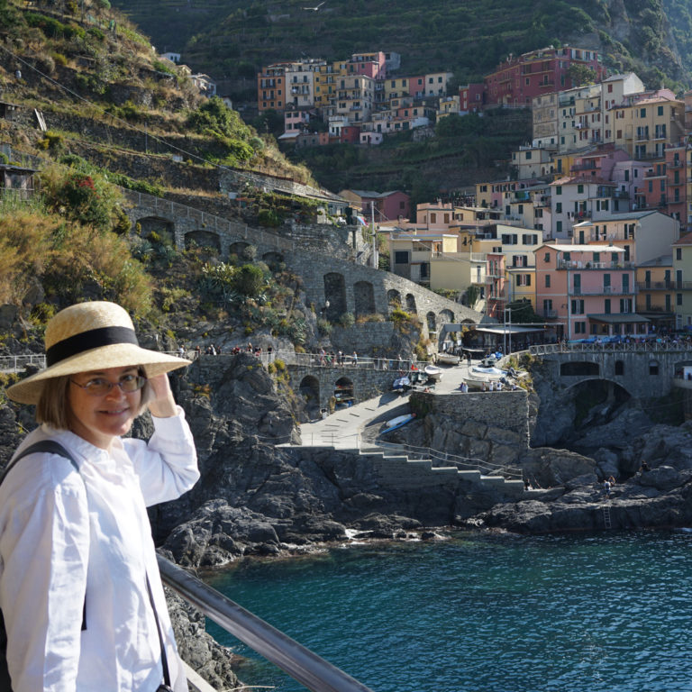
[[[78,472],[34,452],[0,485],[0,609],[14,692],[154,692],[166,668],[171,687],[187,691],[146,506],[199,478],[166,375],[189,361],[141,349],[129,315],[107,302],[62,310],[45,343],[47,368],[7,390],[36,405],[41,423],[14,456],[52,440]],[[147,407],[150,441],[121,439]]]

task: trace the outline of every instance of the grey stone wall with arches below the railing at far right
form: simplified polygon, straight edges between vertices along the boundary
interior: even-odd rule
[[[612,382],[635,399],[688,389],[682,378],[692,370],[692,349],[660,343],[569,344],[532,346],[532,355],[548,366],[553,385],[569,389],[591,379]],[[690,383],[692,384],[692,383]]]

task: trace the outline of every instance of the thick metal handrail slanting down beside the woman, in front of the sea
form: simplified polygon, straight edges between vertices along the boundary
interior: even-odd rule
[[[371,692],[369,687],[208,587],[185,569],[161,555],[157,555],[157,560],[161,578],[168,587],[307,689],[314,692]]]

